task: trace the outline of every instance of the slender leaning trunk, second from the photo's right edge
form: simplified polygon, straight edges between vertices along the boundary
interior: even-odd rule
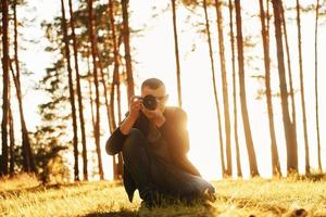
[[[309,156],[306,112],[305,112],[305,100],[304,100],[304,81],[303,81],[302,46],[301,46],[302,44],[302,42],[301,42],[301,18],[300,18],[299,0],[297,0],[297,26],[298,26],[298,50],[299,50],[299,68],[300,68],[302,125],[303,125],[304,150],[305,150],[305,174],[310,174],[310,156]]]

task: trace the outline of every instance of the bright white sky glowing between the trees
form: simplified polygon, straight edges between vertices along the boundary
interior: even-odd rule
[[[170,93],[168,105],[177,105],[177,92],[176,92],[176,73],[175,73],[175,54],[174,54],[174,38],[173,38],[173,26],[172,26],[172,14],[171,8],[168,8],[167,0],[165,1],[146,1],[146,0],[130,0],[130,26],[134,28],[139,28],[147,26],[142,31],[142,37],[133,37],[131,46],[134,47],[131,56],[138,64],[134,65],[135,85],[136,93],[139,93],[139,86],[145,78],[148,77],[159,77],[165,85]],[[243,5],[247,11],[259,12],[258,3],[254,3],[253,0],[243,1]],[[310,3],[312,1],[304,1],[304,3]],[[248,3],[248,4],[247,4]],[[294,1],[286,1],[287,5],[293,5]],[[250,7],[249,7],[250,5]],[[153,9],[153,7],[155,7]],[[39,43],[27,46],[25,51],[21,53],[21,60],[26,64],[26,68],[30,72],[34,72],[34,75],[24,77],[23,84],[25,85],[25,94],[24,101],[27,125],[30,130],[34,130],[40,119],[37,115],[37,102],[41,102],[43,97],[37,91],[30,88],[34,86],[38,79],[45,73],[45,68],[51,65],[51,60],[53,60],[54,54],[46,53],[43,51],[47,46],[47,40],[43,38],[43,30],[40,28],[41,21],[51,21],[54,15],[60,14],[60,3],[54,0],[28,0],[28,8],[24,12],[18,11],[18,14],[26,17],[36,17],[35,22],[30,24],[29,27],[22,29],[22,34],[26,38],[39,39]],[[36,9],[33,12],[33,8]],[[154,12],[167,9],[163,14],[153,17]],[[220,58],[217,55],[217,35],[216,35],[216,25],[215,25],[215,11],[210,10],[211,17],[211,30],[213,39],[213,50],[215,52],[214,63],[217,80],[217,91],[220,99],[220,108],[223,112],[222,102],[222,89],[221,89],[221,73],[220,73]],[[196,15],[197,14],[197,15]],[[190,15],[189,11],[179,7],[177,14],[178,22],[178,33],[179,33],[179,52],[180,52],[180,67],[181,67],[181,90],[183,90],[183,108],[188,113],[188,130],[190,137],[190,152],[188,156],[191,162],[199,168],[202,176],[206,179],[218,179],[221,178],[221,157],[220,157],[220,148],[218,148],[218,128],[216,119],[216,108],[214,104],[213,97],[213,86],[212,86],[212,73],[211,65],[209,60],[209,50],[205,42],[206,38],[203,34],[198,33],[199,29],[204,27],[201,25],[197,28],[193,28],[192,24],[196,22],[203,23],[203,10],[198,10],[196,14],[191,14],[191,20],[186,22],[187,16]],[[294,17],[294,13],[288,14],[290,17]],[[252,18],[246,14],[243,16],[243,35],[248,36],[249,34],[255,34],[260,36],[260,23],[258,18]],[[224,13],[225,20],[227,20],[228,14]],[[313,55],[313,41],[314,41],[314,14],[306,15],[302,17],[303,29],[303,56],[304,56],[304,81],[306,85],[306,106],[308,106],[308,118],[309,118],[309,135],[311,150],[315,152],[316,149],[316,138],[315,138],[315,122],[314,122],[314,55]],[[227,24],[225,24],[227,25]],[[273,27],[273,23],[271,23]],[[228,30],[228,26],[225,26]],[[301,110],[300,110],[300,89],[299,89],[299,77],[298,68],[294,65],[298,62],[298,51],[297,49],[297,30],[296,23],[292,21],[288,25],[288,34],[290,38],[291,46],[291,58],[294,64],[292,71],[294,73],[294,88],[296,93],[296,103],[297,103],[297,117],[298,123],[301,124]],[[272,40],[272,52],[276,53],[273,49],[274,35],[271,35]],[[325,26],[319,28],[319,48],[325,48],[325,41],[322,41],[322,38],[326,37]],[[225,38],[228,36],[225,34]],[[259,169],[263,177],[271,176],[271,141],[268,136],[268,123],[266,115],[266,103],[265,100],[256,100],[258,90],[263,87],[262,81],[258,81],[255,78],[252,78],[253,75],[262,75],[263,62],[260,60],[262,58],[262,42],[260,38],[254,39],[258,42],[255,49],[248,51],[250,54],[254,55],[254,61],[251,63],[252,67],[248,67],[246,86],[247,86],[247,100],[249,108],[249,117],[251,122],[252,136],[254,140],[254,148],[258,154]],[[275,46],[274,46],[275,47]],[[226,41],[226,58],[230,58],[229,43]],[[247,51],[247,50],[244,50]],[[319,49],[319,56],[325,56],[323,49]],[[246,55],[247,53],[244,53]],[[259,61],[255,61],[259,60]],[[272,64],[276,66],[276,56],[272,56]],[[273,62],[274,61],[274,62]],[[325,72],[326,65],[319,59],[319,72]],[[227,65],[228,74],[228,90],[229,90],[229,101],[231,101],[231,67]],[[277,72],[274,69],[272,76],[273,90],[278,90],[278,76]],[[319,73],[319,79],[325,80],[325,73]],[[324,82],[326,84],[326,82]],[[319,94],[325,93],[325,85],[321,82],[319,85]],[[237,84],[238,85],[238,84]],[[124,97],[124,95],[123,95]],[[33,103],[30,103],[33,102]],[[319,111],[326,110],[325,101],[323,98],[319,99]],[[274,98],[274,110],[275,110],[275,120],[276,120],[276,133],[279,148],[279,154],[283,162],[285,162],[286,150],[285,150],[285,140],[284,140],[284,130],[283,130],[283,120],[281,120],[281,111],[279,99]],[[233,104],[233,103],[230,103]],[[126,112],[126,101],[124,102],[123,113]],[[230,106],[233,111],[233,106]],[[242,158],[242,170],[244,177],[248,177],[248,161],[244,149],[244,135],[241,126],[240,119],[240,105],[238,104],[238,124],[239,124],[239,139],[240,139],[240,152]],[[103,116],[103,115],[102,115]],[[321,112],[321,132],[326,129],[326,117],[323,112]],[[233,117],[231,117],[233,122]],[[224,122],[222,122],[224,124]],[[299,142],[299,164],[301,171],[303,169],[302,157],[304,158],[303,150],[303,131],[302,126],[298,125],[298,142]],[[231,132],[233,133],[233,132]],[[103,150],[102,156],[104,161],[105,177],[112,177],[112,157],[108,156],[104,153],[104,143],[109,138],[109,133],[104,133],[101,139],[101,146]],[[225,138],[225,137],[224,137]],[[233,142],[234,143],[234,142]],[[322,146],[324,156],[324,167],[326,166],[326,136],[322,133]],[[234,151],[234,145],[233,145]],[[316,156],[311,155],[312,166],[316,166]],[[236,164],[234,164],[235,166]],[[283,164],[283,169],[285,169],[285,164]]]

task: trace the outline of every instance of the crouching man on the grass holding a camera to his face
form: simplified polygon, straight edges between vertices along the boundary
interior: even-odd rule
[[[153,95],[156,107],[146,107]],[[136,189],[147,207],[162,199],[186,202],[214,200],[214,188],[203,180],[188,161],[187,114],[179,107],[165,107],[168,94],[158,78],[141,85],[141,98],[133,97],[129,112],[106,142],[110,155],[122,151],[124,186],[129,201]]]

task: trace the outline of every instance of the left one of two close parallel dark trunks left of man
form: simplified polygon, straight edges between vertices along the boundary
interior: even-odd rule
[[[65,48],[65,59],[67,62],[67,72],[68,72],[68,89],[70,89],[70,101],[72,106],[72,118],[73,118],[73,145],[74,145],[74,180],[79,180],[79,168],[78,168],[78,136],[77,136],[77,116],[76,116],[76,105],[75,105],[75,92],[73,85],[73,72],[71,66],[71,51],[70,51],[70,41],[67,36],[67,27],[65,20],[64,2],[61,0],[61,11],[62,11],[62,31],[64,37],[64,48]]]

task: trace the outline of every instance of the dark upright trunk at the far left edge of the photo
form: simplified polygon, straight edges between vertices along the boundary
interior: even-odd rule
[[[3,92],[2,92],[2,162],[0,176],[8,175],[8,103],[9,103],[9,39],[8,39],[8,0],[2,0],[2,76],[3,76]]]

